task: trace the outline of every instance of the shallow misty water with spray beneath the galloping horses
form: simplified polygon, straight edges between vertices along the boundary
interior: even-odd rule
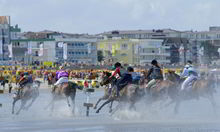
[[[97,90],[90,101],[95,103],[103,91]],[[12,115],[12,94],[0,95],[0,132],[220,132],[220,94],[215,94],[217,114],[207,99],[183,102],[178,115],[173,114],[173,105],[161,109],[160,102],[151,108],[139,102],[136,111],[127,109],[113,116],[104,107],[99,114],[90,110],[86,117],[86,96],[82,91],[76,95],[76,112],[73,115],[66,100],[56,102],[55,111],[44,109],[51,99],[48,89],[42,88],[40,96],[28,111]],[[115,103],[116,105],[117,103]],[[115,106],[114,105],[114,106]],[[18,109],[19,103],[16,105]]]

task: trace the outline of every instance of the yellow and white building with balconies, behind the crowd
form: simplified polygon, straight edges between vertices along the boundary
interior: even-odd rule
[[[159,39],[106,39],[98,43],[106,63],[145,65],[153,59],[160,63],[170,63],[169,46]]]

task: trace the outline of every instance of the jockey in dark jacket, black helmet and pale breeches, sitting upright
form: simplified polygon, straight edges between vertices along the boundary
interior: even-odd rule
[[[153,85],[155,85],[158,81],[163,80],[163,74],[160,66],[158,65],[157,60],[152,60],[152,67],[147,74],[148,84],[146,88],[149,90]]]

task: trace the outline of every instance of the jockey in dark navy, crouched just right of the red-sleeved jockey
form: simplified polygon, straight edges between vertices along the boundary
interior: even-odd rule
[[[119,97],[119,92],[128,84],[132,83],[132,73],[134,69],[132,67],[127,68],[127,73],[124,73],[122,77],[116,83],[116,93]]]

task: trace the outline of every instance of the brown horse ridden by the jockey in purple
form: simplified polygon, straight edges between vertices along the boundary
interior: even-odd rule
[[[72,113],[75,113],[75,96],[76,96],[76,89],[82,90],[81,86],[78,86],[76,83],[68,81],[68,85],[65,87],[56,87],[52,91],[52,100],[50,103],[46,106],[45,109],[51,106],[51,111],[54,110],[54,104],[56,100],[60,100],[65,98],[67,100],[68,107],[71,107],[69,102],[69,97],[72,101]]]

